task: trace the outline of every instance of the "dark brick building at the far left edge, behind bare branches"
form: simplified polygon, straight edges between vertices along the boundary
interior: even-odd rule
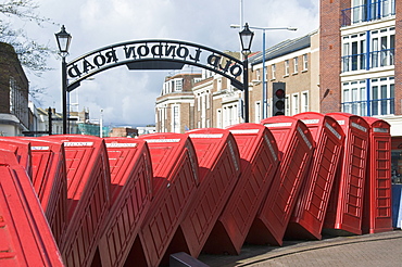
[[[0,136],[29,129],[29,84],[14,48],[0,42]]]

